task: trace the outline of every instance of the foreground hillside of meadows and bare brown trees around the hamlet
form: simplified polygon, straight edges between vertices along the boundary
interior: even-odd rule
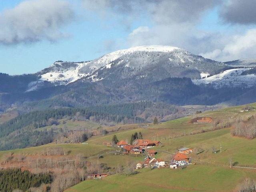
[[[247,110],[248,108],[252,110]],[[161,122],[159,124],[131,124],[118,125],[116,127],[104,127],[109,132],[106,135],[92,136],[84,144],[46,144],[38,147],[2,151],[0,162],[3,168],[21,167],[32,173],[50,171],[56,179],[52,188],[62,186],[66,179],[85,180],[88,174],[107,174],[101,180],[88,180],[67,189],[66,191],[128,191],[128,186],[136,184],[134,191],[142,189],[173,190],[173,191],[233,191],[238,190],[244,180],[256,179],[254,169],[230,168],[230,162],[235,166],[255,168],[254,150],[256,140],[248,140],[231,135],[234,123],[247,121],[255,116],[256,104],[223,108],[209,112],[203,112],[184,118]],[[211,123],[192,123],[195,118],[210,117]],[[84,122],[67,122],[70,130],[76,130],[76,126]],[[63,126],[63,125],[62,125]],[[89,124],[88,124],[89,126]],[[97,125],[91,125],[94,130]],[[89,127],[88,127],[89,128]],[[97,128],[96,128],[97,130]],[[129,166],[142,161],[143,154],[122,155],[115,147],[102,145],[104,141],[111,141],[116,135],[118,140],[130,140],[134,132],[141,132],[144,139],[159,140],[162,144],[154,146],[157,154],[155,157],[170,160],[182,147],[192,148],[194,151],[188,156],[192,164],[185,168],[142,168],[130,172]],[[222,147],[222,152],[220,152]],[[216,151],[213,152],[213,149]],[[120,153],[120,154],[119,154]],[[100,157],[100,158],[99,158]],[[246,158],[245,158],[246,157]],[[80,173],[80,166],[87,169]],[[64,168],[64,169],[63,169]],[[135,166],[132,168],[135,169]],[[58,174],[62,172],[62,178]],[[69,173],[70,177],[68,177]],[[72,173],[72,174],[71,174]],[[128,174],[128,175],[127,175]],[[196,175],[196,177],[194,177]],[[211,178],[211,181],[205,178]],[[143,178],[143,179],[142,179]],[[167,182],[168,181],[168,182]],[[61,184],[62,183],[62,184]],[[72,182],[70,182],[71,184]],[[225,183],[225,184],[224,184]],[[63,185],[64,187],[65,185]]]

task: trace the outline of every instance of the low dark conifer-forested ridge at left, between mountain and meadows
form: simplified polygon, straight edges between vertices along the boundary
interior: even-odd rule
[[[0,150],[40,146],[63,136],[68,137],[71,133],[68,126],[64,130],[55,128],[56,125],[65,124],[65,120],[82,122],[93,120],[99,124],[109,125],[144,123],[148,122],[147,120],[151,116],[162,118],[166,115],[176,115],[178,109],[179,107],[174,105],[145,101],[88,108],[33,111],[0,124]],[[60,121],[61,119],[64,120]],[[44,127],[48,127],[48,129]],[[92,135],[92,130],[88,130],[86,126],[80,126],[75,131],[86,133],[81,138],[82,140],[86,140]]]

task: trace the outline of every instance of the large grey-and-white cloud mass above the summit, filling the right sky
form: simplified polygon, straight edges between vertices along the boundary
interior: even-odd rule
[[[83,0],[86,8],[104,14],[105,19],[120,16],[123,20],[136,20],[145,16],[149,26],[130,30],[128,46],[161,44],[178,46],[194,54],[219,61],[252,58],[256,53],[256,32],[246,28],[255,24],[254,0]],[[218,9],[220,26],[212,31],[199,30],[198,24],[206,12]],[[241,14],[240,14],[241,12]],[[221,24],[221,19],[222,24]],[[211,20],[209,19],[211,22]],[[213,21],[216,22],[216,21]],[[237,25],[227,25],[227,24]],[[130,25],[132,22],[123,22]],[[243,28],[239,27],[243,24]],[[210,24],[209,24],[210,26]],[[128,28],[129,29],[129,28]],[[225,31],[224,31],[224,30]],[[247,30],[247,32],[246,32]],[[244,33],[245,34],[242,34]]]

